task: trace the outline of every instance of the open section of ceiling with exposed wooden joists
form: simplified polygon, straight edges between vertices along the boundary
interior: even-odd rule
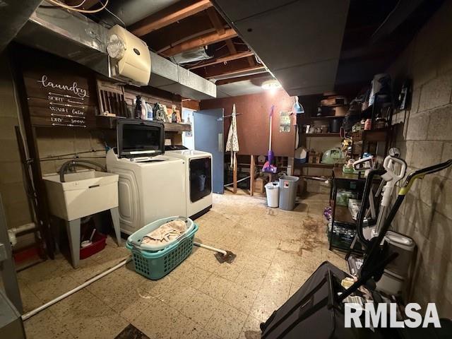
[[[68,1],[73,5],[78,0]],[[91,2],[89,6],[96,6]],[[273,78],[209,0],[110,0],[107,8],[114,15],[102,11],[90,18],[106,25],[125,24],[153,52],[179,63],[186,61],[181,66],[219,84],[220,97],[263,91],[248,76],[258,75],[262,81]],[[201,53],[207,59],[187,59]],[[225,79],[227,85],[220,82]],[[240,85],[231,85],[242,79]]]

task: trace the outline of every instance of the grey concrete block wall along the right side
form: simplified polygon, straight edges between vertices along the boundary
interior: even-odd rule
[[[412,78],[412,107],[396,115],[394,143],[408,172],[452,158],[452,1],[424,25],[388,70],[394,83]],[[452,169],[426,176],[412,187],[393,228],[418,246],[410,296],[436,302],[452,318]]]

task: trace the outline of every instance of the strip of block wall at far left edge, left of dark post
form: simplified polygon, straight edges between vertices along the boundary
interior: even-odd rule
[[[22,167],[14,126],[18,125],[18,106],[13,78],[5,53],[0,55],[0,193],[8,228],[32,221],[23,186]]]

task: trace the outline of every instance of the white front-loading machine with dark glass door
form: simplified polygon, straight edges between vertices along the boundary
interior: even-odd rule
[[[186,213],[198,218],[212,207],[212,155],[185,146],[165,146],[165,155],[185,162]]]

